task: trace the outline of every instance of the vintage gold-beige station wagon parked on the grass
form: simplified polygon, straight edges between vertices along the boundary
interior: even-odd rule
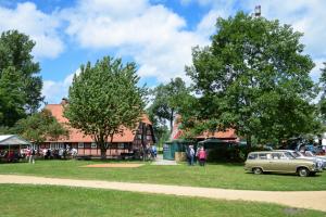
[[[299,159],[284,151],[251,152],[248,154],[244,169],[254,174],[264,171],[298,174],[301,177],[323,171],[316,162]]]

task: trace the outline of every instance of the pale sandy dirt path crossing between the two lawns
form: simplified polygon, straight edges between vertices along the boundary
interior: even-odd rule
[[[183,196],[201,196],[220,200],[243,200],[276,203],[297,208],[311,208],[326,212],[326,191],[249,191],[197,187],[178,187],[149,183],[129,183],[98,180],[75,180],[42,178],[33,176],[0,175],[0,183],[52,184],[112,189],[121,191],[162,193]]]

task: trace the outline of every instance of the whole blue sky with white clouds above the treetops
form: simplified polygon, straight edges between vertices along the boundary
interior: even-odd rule
[[[317,81],[326,62],[325,0],[0,0],[0,33],[17,29],[36,41],[42,94],[59,103],[80,65],[105,55],[135,62],[139,85],[152,88],[175,77],[189,84],[191,48],[210,44],[217,17],[252,13],[255,5],[304,34]]]

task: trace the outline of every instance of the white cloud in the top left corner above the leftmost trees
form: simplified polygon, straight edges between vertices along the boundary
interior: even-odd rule
[[[36,58],[57,58],[64,44],[58,35],[60,21],[54,14],[45,14],[30,2],[18,3],[15,9],[0,7],[0,31],[17,29],[36,41]]]

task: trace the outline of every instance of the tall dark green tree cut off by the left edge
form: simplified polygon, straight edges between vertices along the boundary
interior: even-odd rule
[[[42,80],[37,74],[39,64],[34,62],[35,42],[17,30],[9,30],[0,37],[0,126],[13,126],[25,114],[37,112]],[[10,75],[9,75],[10,74]],[[7,89],[3,87],[7,86]],[[15,86],[15,87],[14,87]],[[9,89],[8,87],[12,87]],[[10,98],[10,100],[8,100]],[[22,111],[24,111],[22,113]]]

